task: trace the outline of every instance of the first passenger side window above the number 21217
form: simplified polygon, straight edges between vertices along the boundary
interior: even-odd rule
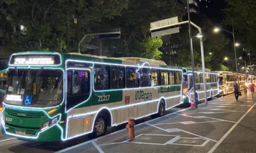
[[[94,89],[95,90],[110,89],[110,65],[103,65],[103,64],[94,65]]]

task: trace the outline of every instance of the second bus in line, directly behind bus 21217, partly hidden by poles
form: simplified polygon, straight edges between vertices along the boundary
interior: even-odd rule
[[[183,75],[184,72],[188,75],[188,86],[187,89],[184,89],[183,93],[187,93],[186,95],[183,94],[184,97],[191,98],[194,97],[194,89],[193,89],[193,74],[192,69],[188,68],[186,70],[183,69]],[[197,91],[197,98],[198,100],[205,99],[204,97],[204,86],[203,86],[203,72],[200,68],[195,68],[195,84],[196,84],[196,91]],[[184,76],[183,76],[184,77]],[[217,95],[219,95],[219,85],[218,85],[218,73],[211,72],[208,69],[205,69],[205,79],[206,79],[206,96],[207,98],[212,98]],[[191,100],[189,100],[191,101]]]

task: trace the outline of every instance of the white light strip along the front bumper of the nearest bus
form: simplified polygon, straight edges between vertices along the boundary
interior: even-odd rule
[[[6,108],[6,107],[5,107],[5,108]],[[5,110],[5,108],[4,108],[4,110]],[[38,112],[39,112],[39,111],[38,111]],[[45,112],[44,112],[44,113],[45,113]],[[57,114],[57,115],[55,115],[55,116],[49,118],[48,120],[53,119],[53,118],[55,118],[55,117],[57,117],[57,116],[59,116],[58,121],[57,121],[56,123],[54,123],[53,125],[51,125],[50,127],[45,128],[44,130],[41,130],[40,132],[38,132],[37,135],[36,135],[36,137],[33,137],[33,136],[21,136],[21,135],[16,135],[16,134],[12,134],[12,133],[7,132],[7,131],[6,131],[6,128],[5,128],[4,124],[3,124],[3,117],[4,117],[4,116],[2,116],[1,123],[2,123],[2,126],[3,126],[3,128],[4,128],[4,132],[5,132],[6,135],[13,136],[13,137],[19,137],[19,138],[25,138],[25,139],[37,139],[41,133],[45,132],[46,130],[48,130],[48,129],[50,129],[50,128],[52,128],[52,127],[54,127],[55,125],[58,124],[58,122],[61,120],[61,114]]]

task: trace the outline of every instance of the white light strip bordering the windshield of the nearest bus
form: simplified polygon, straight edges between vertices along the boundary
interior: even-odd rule
[[[14,69],[14,68],[8,68],[8,69]],[[40,68],[30,68],[30,67],[28,67],[28,68],[19,68],[19,69],[40,69]],[[64,72],[64,70],[63,69],[61,69],[61,68],[44,68],[44,69],[47,69],[47,70],[61,70],[62,72],[63,72],[63,74],[65,73]],[[6,105],[6,106],[9,106],[9,107],[15,107],[15,108],[20,108],[20,109],[26,109],[26,108],[28,108],[29,110],[47,110],[47,109],[50,109],[50,108],[56,108],[56,107],[59,107],[60,105],[62,105],[63,104],[63,102],[65,101],[65,97],[66,97],[66,92],[65,92],[65,89],[66,89],[66,84],[65,84],[65,80],[66,80],[66,76],[64,76],[63,75],[63,88],[62,88],[62,90],[63,90],[63,99],[62,99],[62,102],[60,103],[60,104],[58,104],[58,105],[56,105],[56,106],[51,106],[51,107],[26,107],[26,106],[22,106],[22,105],[19,105],[19,106],[17,106],[17,105],[11,105],[11,104],[7,104],[7,103],[5,103],[5,102],[3,102],[3,104],[4,105]]]

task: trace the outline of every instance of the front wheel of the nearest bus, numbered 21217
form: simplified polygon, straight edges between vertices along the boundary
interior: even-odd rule
[[[108,127],[108,122],[103,115],[97,115],[94,125],[93,125],[93,133],[89,135],[89,138],[94,139],[101,136],[104,136],[106,133],[106,129]]]

